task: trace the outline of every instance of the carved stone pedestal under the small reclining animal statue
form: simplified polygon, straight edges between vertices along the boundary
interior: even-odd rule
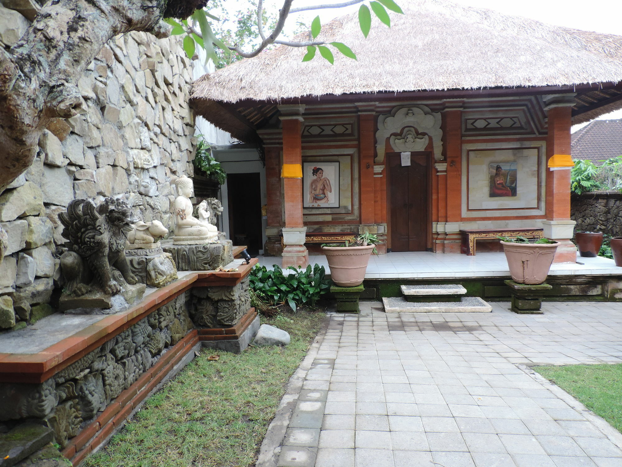
[[[126,247],[129,268],[141,283],[150,287],[164,287],[177,280],[175,260],[164,253],[160,242],[151,245]]]

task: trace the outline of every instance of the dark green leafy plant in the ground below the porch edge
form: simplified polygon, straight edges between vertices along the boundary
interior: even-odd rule
[[[277,265],[272,270],[256,266],[249,275],[250,288],[268,303],[287,304],[294,312],[298,306],[315,306],[328,290],[330,281],[323,266],[309,265],[306,269],[290,266],[286,271],[287,275]]]

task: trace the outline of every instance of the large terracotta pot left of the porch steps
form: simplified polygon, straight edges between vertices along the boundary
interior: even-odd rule
[[[366,247],[322,247],[328,260],[330,278],[340,287],[355,287],[363,283],[369,255],[374,245]]]

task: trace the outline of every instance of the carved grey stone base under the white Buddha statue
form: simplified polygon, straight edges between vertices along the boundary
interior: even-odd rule
[[[162,248],[172,255],[178,271],[213,271],[233,261],[231,240],[202,245],[174,245],[164,242]]]

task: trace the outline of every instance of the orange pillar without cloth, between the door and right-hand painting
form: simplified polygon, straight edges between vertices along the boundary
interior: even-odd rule
[[[462,110],[448,109],[445,116],[447,145],[447,222],[445,253],[460,253],[460,222],[462,221]],[[440,183],[439,183],[440,185]]]

